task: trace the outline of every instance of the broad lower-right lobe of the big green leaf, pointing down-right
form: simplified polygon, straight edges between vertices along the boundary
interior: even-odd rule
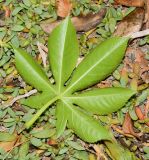
[[[95,119],[67,101],[63,101],[63,104],[68,116],[69,128],[81,139],[90,143],[98,140],[111,140],[110,132]]]

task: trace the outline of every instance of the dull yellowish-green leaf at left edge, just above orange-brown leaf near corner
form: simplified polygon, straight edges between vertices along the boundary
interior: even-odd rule
[[[7,132],[0,132],[0,141],[1,142],[9,142],[16,139],[15,134],[9,134]]]

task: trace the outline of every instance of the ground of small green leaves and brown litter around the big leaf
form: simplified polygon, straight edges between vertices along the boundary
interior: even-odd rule
[[[47,18],[51,18],[51,21],[56,19],[55,3],[51,2],[48,6],[44,2],[37,3],[35,1],[22,1],[20,4],[17,1],[1,2],[0,38],[2,42],[11,42],[16,47],[26,48],[39,63],[42,63],[42,56],[39,54],[36,41],[38,39],[42,44],[46,44],[48,36],[39,27],[39,22]],[[80,10],[83,14],[97,12],[98,7],[96,6],[98,5],[95,3],[89,4],[84,1],[75,5],[73,14],[76,15]],[[93,7],[96,9],[93,10]],[[33,10],[34,16],[32,16]],[[109,8],[107,18],[96,29],[98,34],[91,32],[92,34],[79,35],[81,57],[89,49],[96,46],[97,43],[112,34],[116,25],[115,22],[122,19],[121,13],[119,8]],[[23,17],[23,21],[20,16]],[[105,26],[109,28],[105,29]],[[117,141],[130,151],[133,151],[140,159],[148,159],[149,153],[149,129],[147,127],[149,108],[147,101],[147,60],[149,58],[147,40],[146,37],[133,41],[126,52],[123,63],[112,76],[97,85],[100,88],[107,86],[137,88],[138,95],[117,113],[108,116],[95,116],[103,124],[110,125]],[[3,103],[18,95],[24,95],[32,90],[32,87],[26,85],[21,77],[18,76],[14,65],[14,57],[10,50],[7,49],[7,43],[2,43],[0,50],[0,98],[1,103]],[[48,67],[45,70],[48,76],[51,77],[51,82],[53,82]],[[110,159],[110,153],[107,152],[103,143],[84,143],[71,130],[65,130],[64,134],[55,140],[55,107],[50,108],[40,117],[31,132],[24,130],[23,126],[35,113],[34,109],[22,106],[18,102],[14,103],[12,107],[1,107],[0,109],[0,130],[1,137],[3,137],[0,139],[0,146],[2,146],[0,159],[21,159],[22,157],[26,157],[26,159],[85,160],[96,159],[97,157],[98,159]],[[6,132],[9,132],[10,135]]]

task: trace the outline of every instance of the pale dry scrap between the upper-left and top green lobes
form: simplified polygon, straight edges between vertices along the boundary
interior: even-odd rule
[[[39,50],[41,58],[42,58],[43,66],[46,67],[46,65],[47,65],[46,64],[46,61],[47,61],[47,54],[46,53],[48,52],[48,48],[39,42],[37,42],[37,46],[38,46],[38,50]]]

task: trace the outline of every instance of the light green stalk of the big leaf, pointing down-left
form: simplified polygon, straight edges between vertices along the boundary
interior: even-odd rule
[[[52,100],[50,100],[48,103],[46,103],[41,109],[37,111],[37,113],[31,118],[30,121],[25,123],[25,127],[29,129],[33,123],[41,116],[41,114],[56,100],[59,99],[59,96],[54,97]]]

